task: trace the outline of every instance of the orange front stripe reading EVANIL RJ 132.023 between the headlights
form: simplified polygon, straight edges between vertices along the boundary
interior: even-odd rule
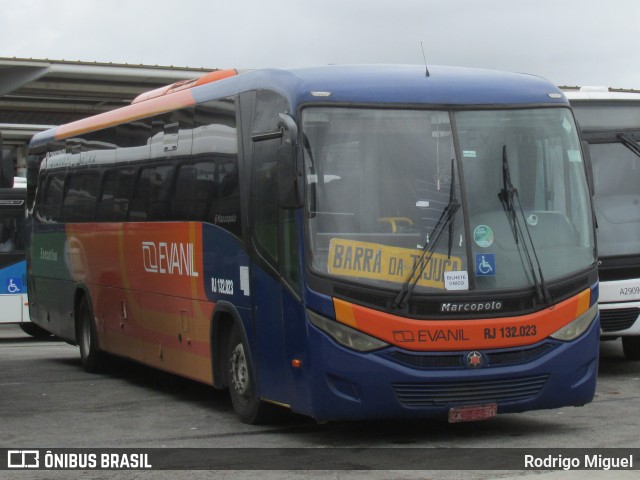
[[[587,311],[591,290],[539,312],[473,320],[414,320],[337,298],[336,319],[392,345],[416,351],[453,351],[531,345]]]

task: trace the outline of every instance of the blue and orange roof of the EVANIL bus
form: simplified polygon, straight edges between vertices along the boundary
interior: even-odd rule
[[[270,89],[292,109],[305,103],[430,106],[567,104],[551,82],[533,75],[420,65],[323,66],[252,70],[160,95],[36,134],[31,146],[145,118],[216,98]],[[295,113],[295,112],[293,112]]]

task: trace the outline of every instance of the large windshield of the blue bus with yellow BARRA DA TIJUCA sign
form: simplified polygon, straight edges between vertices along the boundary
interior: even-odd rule
[[[595,261],[566,108],[314,107],[302,126],[316,273],[389,289],[415,275],[415,292],[492,290]]]

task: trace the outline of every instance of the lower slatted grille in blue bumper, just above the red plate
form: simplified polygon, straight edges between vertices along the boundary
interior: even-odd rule
[[[467,382],[394,383],[396,397],[406,407],[478,402],[518,402],[534,398],[548,375]]]

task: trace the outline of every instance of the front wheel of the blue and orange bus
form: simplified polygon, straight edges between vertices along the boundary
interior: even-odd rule
[[[233,410],[244,423],[257,425],[272,417],[273,407],[258,397],[249,349],[240,329],[234,325],[229,333],[227,371]]]

